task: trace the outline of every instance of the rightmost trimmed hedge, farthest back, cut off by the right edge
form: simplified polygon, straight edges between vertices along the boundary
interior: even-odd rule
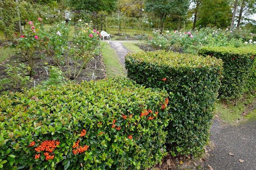
[[[224,78],[219,90],[221,99],[239,98],[244,92],[254,89],[256,78],[253,63],[256,48],[252,45],[239,48],[204,46],[199,49],[198,54],[214,56],[224,62]]]

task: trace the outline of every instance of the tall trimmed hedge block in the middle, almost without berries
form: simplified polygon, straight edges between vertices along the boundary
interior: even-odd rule
[[[198,154],[209,138],[218,97],[222,61],[214,57],[155,51],[129,53],[128,77],[146,87],[165,89],[169,96],[167,142],[172,154]]]

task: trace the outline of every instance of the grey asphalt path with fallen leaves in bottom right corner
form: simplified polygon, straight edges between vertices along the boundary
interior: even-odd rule
[[[210,130],[216,147],[209,152],[212,156],[206,159],[204,169],[210,165],[214,170],[256,170],[256,120],[228,126],[214,120]]]

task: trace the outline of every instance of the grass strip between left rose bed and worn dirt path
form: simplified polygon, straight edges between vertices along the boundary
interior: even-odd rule
[[[117,75],[124,77],[125,68],[120,64],[117,52],[112,49],[107,42],[100,42],[102,48],[102,56],[106,66],[107,77],[116,77]]]

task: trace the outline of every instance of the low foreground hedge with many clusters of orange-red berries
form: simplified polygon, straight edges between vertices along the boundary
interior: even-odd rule
[[[165,156],[164,91],[128,79],[0,97],[5,169],[143,169]]]

